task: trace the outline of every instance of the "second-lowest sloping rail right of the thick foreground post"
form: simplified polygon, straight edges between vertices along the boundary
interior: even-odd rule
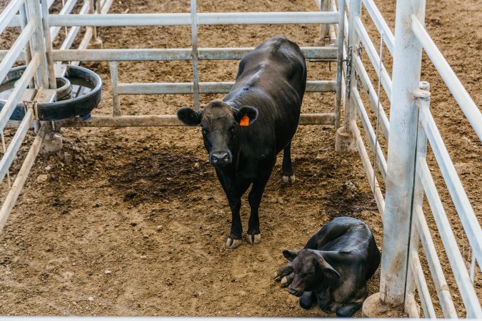
[[[420,205],[415,207],[413,221],[415,222],[418,235],[420,236],[422,247],[428,263],[428,268],[430,269],[433,284],[435,285],[435,289],[437,291],[438,300],[440,300],[443,315],[445,317],[456,319],[458,318],[457,310],[453,305],[450,289],[447,285],[445,275],[443,275],[442,266],[440,264],[440,260],[438,259],[435,245],[433,245],[432,235],[430,234],[425,215],[423,214],[423,210]]]

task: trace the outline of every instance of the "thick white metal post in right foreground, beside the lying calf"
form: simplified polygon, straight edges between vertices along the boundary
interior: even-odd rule
[[[380,298],[388,305],[401,305],[406,289],[422,55],[412,14],[424,21],[425,0],[397,1],[380,277]]]

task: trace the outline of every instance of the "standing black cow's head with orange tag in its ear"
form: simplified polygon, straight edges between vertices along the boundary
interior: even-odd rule
[[[211,101],[201,111],[189,107],[180,108],[177,118],[186,126],[201,126],[204,146],[209,153],[209,163],[226,166],[233,163],[233,148],[239,123],[251,125],[258,117],[258,110],[251,106],[239,109],[222,101]],[[248,118],[248,119],[246,119]]]

